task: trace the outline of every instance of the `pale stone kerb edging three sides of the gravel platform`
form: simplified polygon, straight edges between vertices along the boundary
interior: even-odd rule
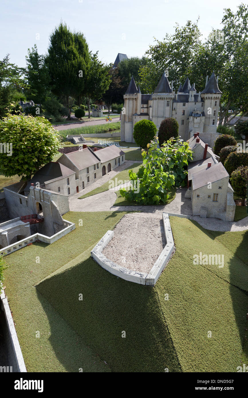
[[[101,265],[102,268],[106,269],[113,275],[125,279],[126,281],[139,283],[140,285],[154,286],[174,250],[174,240],[170,228],[169,216],[167,213],[163,213],[163,224],[166,236],[166,246],[162,250],[156,263],[153,265],[148,274],[138,271],[131,271],[130,269],[115,264],[113,261],[103,256],[102,251],[113,238],[114,231],[109,230],[106,232],[106,234],[91,251],[91,257],[94,258],[94,260]]]

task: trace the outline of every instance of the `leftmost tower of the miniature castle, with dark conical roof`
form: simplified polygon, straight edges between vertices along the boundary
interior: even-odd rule
[[[141,90],[137,89],[132,76],[124,94],[124,113],[121,115],[121,141],[133,142],[133,115],[140,113]]]

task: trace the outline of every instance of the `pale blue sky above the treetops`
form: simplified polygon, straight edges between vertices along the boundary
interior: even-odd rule
[[[103,62],[114,62],[118,53],[144,55],[153,37],[162,40],[178,22],[196,21],[204,37],[221,29],[223,9],[236,11],[242,0],[1,0],[0,59],[25,66],[27,49],[36,43],[45,54],[49,34],[61,19],[71,30],[82,31],[90,50]],[[37,33],[39,39],[37,39]]]

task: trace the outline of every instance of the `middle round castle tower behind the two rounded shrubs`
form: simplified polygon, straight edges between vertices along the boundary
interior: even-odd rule
[[[172,116],[172,102],[174,99],[172,88],[164,72],[152,95],[152,121],[157,128],[160,127],[162,120]]]

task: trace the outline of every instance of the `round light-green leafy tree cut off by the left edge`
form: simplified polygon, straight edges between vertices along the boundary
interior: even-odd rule
[[[4,117],[0,120],[0,142],[12,144],[12,156],[7,151],[0,153],[0,174],[6,177],[30,179],[60,148],[59,134],[44,117]]]

